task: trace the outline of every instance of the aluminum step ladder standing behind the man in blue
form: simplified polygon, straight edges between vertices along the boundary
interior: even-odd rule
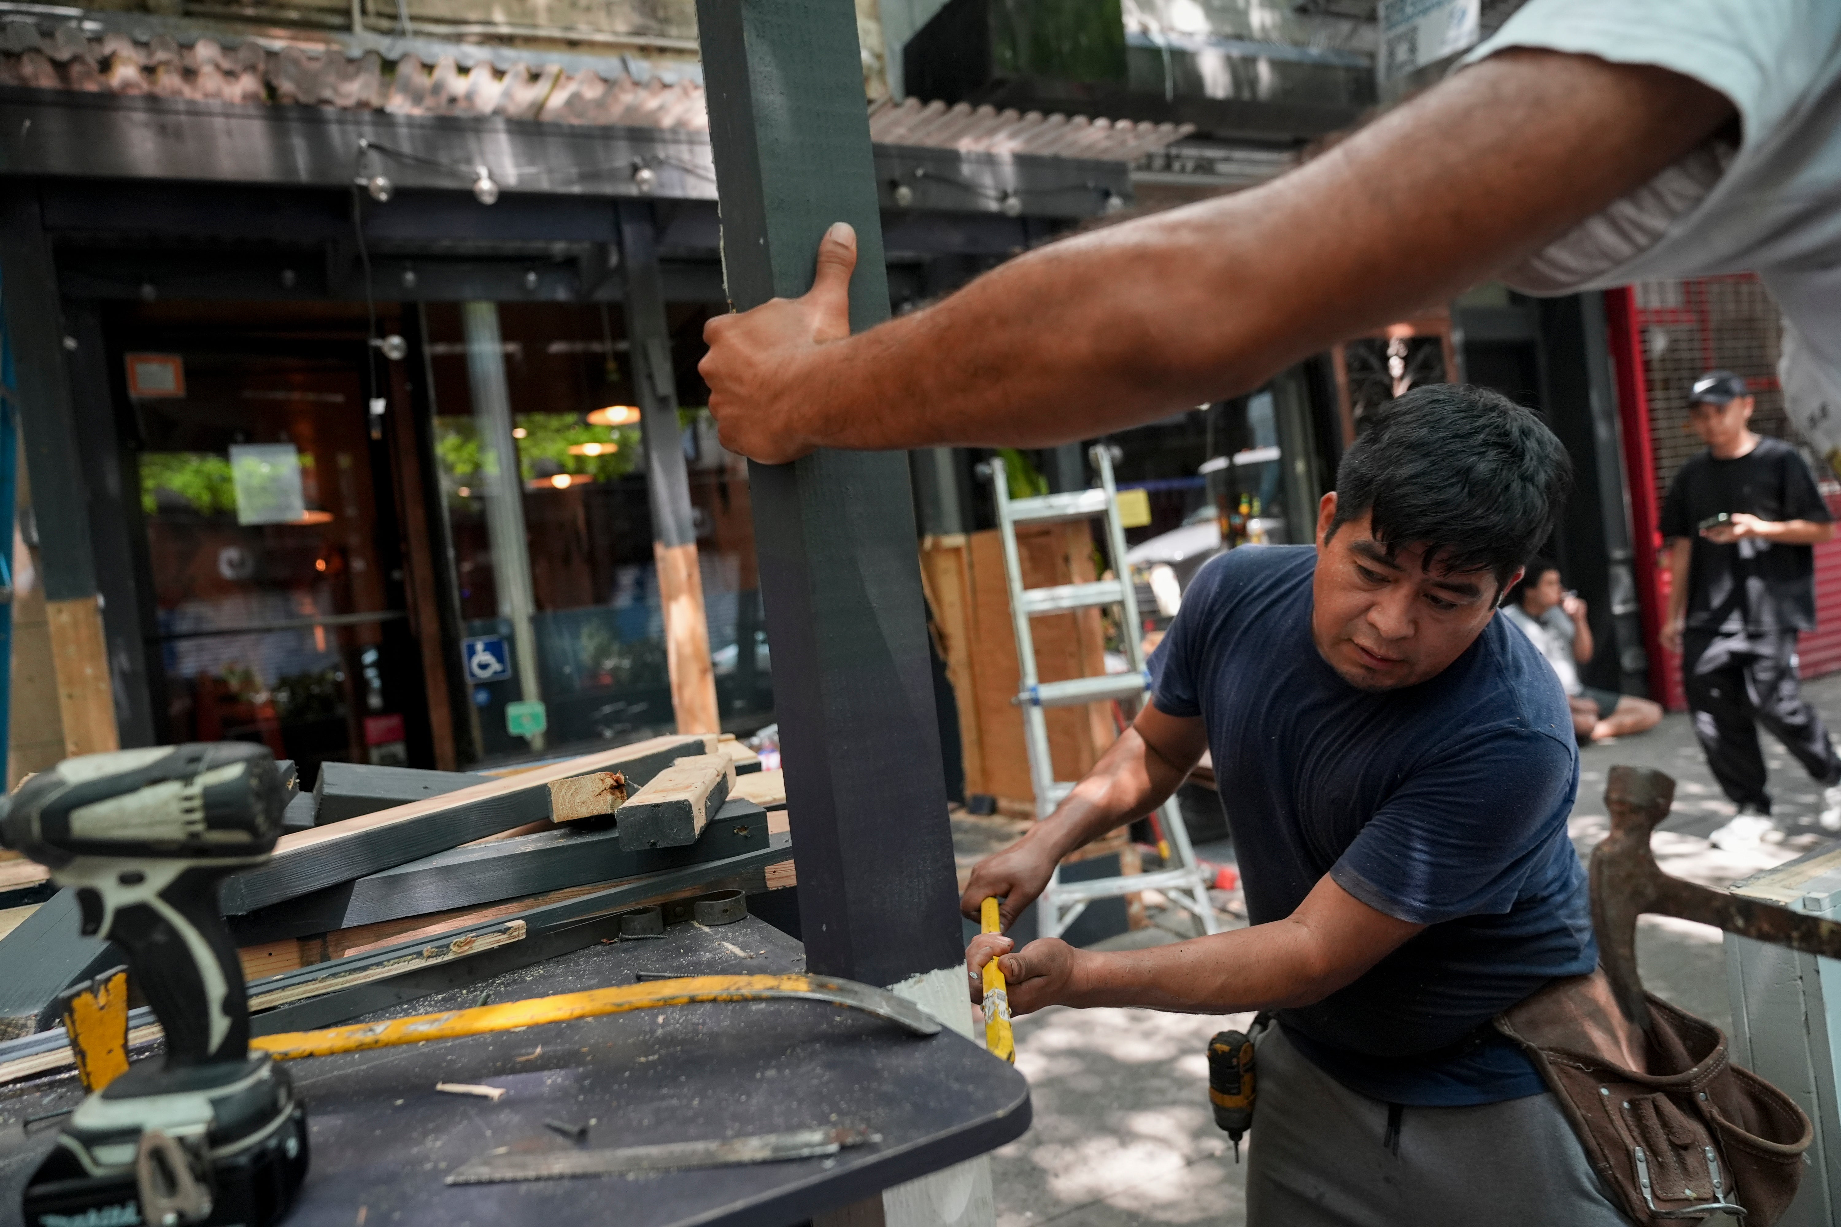
[[[1016,625],[1016,662],[1022,670],[1022,690],[1013,703],[1024,710],[1024,745],[1029,749],[1029,782],[1036,795],[1036,819],[1046,819],[1073,791],[1073,784],[1055,780],[1048,745],[1048,721],[1042,710],[1083,703],[1106,703],[1110,699],[1143,699],[1151,688],[1151,673],[1145,670],[1143,642],[1140,638],[1143,624],[1138,616],[1138,594],[1132,591],[1130,568],[1125,565],[1125,526],[1119,522],[1119,497],[1112,482],[1112,453],[1101,445],[1094,447],[1090,454],[1094,467],[1099,471],[1099,487],[1070,495],[1011,499],[1003,460],[992,456],[989,467],[990,487],[996,495],[998,532],[1003,537],[1003,576],[1011,589],[1011,618]],[[1112,556],[1112,574],[1116,578],[1094,583],[1025,589],[1022,561],[1016,552],[1016,526],[1092,519],[1106,522],[1106,552]],[[1040,681],[1029,620],[1040,614],[1071,613],[1097,605],[1116,605],[1119,609],[1119,616],[1127,627],[1127,633],[1119,638],[1125,646],[1129,670],[1125,673],[1077,677],[1060,682]],[[1208,883],[1195,863],[1189,831],[1182,824],[1182,811],[1176,808],[1175,797],[1164,802],[1158,817],[1173,865],[1165,865],[1154,874],[1088,881],[1062,881],[1060,866],[1057,866],[1042,898],[1036,900],[1038,935],[1049,938],[1060,936],[1068,931],[1068,925],[1081,918],[1081,912],[1094,900],[1110,900],[1138,890],[1162,890],[1171,903],[1182,907],[1200,922],[1202,933],[1217,933],[1215,909],[1208,901]]]

